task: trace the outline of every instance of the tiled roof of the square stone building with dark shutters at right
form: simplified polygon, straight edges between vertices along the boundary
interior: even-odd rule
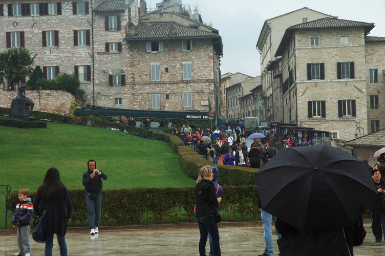
[[[320,18],[307,23],[300,23],[291,26],[286,29],[284,36],[282,37],[280,46],[275,52],[275,57],[282,56],[285,51],[285,47],[288,44],[292,34],[295,30],[303,29],[331,29],[331,28],[364,28],[365,35],[367,35],[373,28],[373,23],[356,22],[348,19],[337,19],[337,18]]]

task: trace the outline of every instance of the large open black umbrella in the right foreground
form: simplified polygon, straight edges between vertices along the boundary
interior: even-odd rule
[[[378,197],[368,164],[329,145],[280,150],[255,181],[263,210],[300,230],[352,226]]]

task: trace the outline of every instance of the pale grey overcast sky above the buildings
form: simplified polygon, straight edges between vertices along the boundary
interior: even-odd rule
[[[198,5],[203,22],[212,22],[219,30],[223,41],[221,72],[241,72],[250,76],[260,75],[260,55],[255,49],[263,23],[266,19],[303,7],[338,16],[340,19],[375,23],[371,36],[385,37],[384,0],[324,0],[309,2],[260,1],[260,0],[182,0],[183,4]],[[152,0],[151,8],[161,2]],[[147,0],[147,8],[149,5]]]

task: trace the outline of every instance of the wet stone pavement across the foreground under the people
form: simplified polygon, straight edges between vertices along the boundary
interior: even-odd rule
[[[375,243],[370,228],[363,245],[354,247],[355,256],[385,255],[385,242]],[[256,256],[265,248],[263,227],[223,227],[219,229],[222,255]],[[55,238],[56,239],[56,238]],[[54,239],[53,254],[59,255]],[[274,255],[278,255],[276,235],[273,229]],[[101,230],[90,236],[89,232],[71,231],[66,235],[68,255],[199,255],[199,230]],[[208,255],[208,242],[207,242]],[[17,252],[16,235],[0,237],[0,256]],[[32,242],[32,255],[44,255],[44,244]]]

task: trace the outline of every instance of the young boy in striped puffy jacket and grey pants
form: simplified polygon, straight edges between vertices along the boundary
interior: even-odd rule
[[[13,228],[17,228],[17,245],[19,252],[15,256],[31,256],[31,226],[33,205],[29,198],[29,190],[20,189],[19,204],[16,205],[15,214],[12,217]]]

